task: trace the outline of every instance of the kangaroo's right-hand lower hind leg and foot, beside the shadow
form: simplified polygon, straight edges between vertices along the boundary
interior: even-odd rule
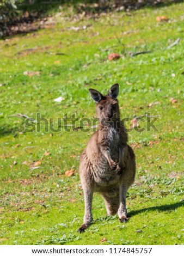
[[[123,185],[120,185],[120,205],[118,209],[118,216],[120,222],[126,222],[128,221],[127,218],[127,211],[126,211],[126,193],[127,188]]]

